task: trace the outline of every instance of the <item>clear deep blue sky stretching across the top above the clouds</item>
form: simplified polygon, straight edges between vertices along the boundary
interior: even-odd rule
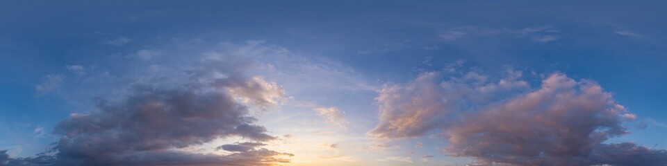
[[[51,129],[69,113],[81,112],[58,96],[38,95],[35,85],[44,75],[67,73],[65,66],[72,64],[131,71],[105,57],[166,46],[172,38],[261,40],[335,59],[378,82],[404,82],[420,70],[438,70],[461,59],[491,74],[508,66],[561,71],[599,82],[641,118],[667,122],[666,2],[511,2],[1,1],[0,149],[20,140],[1,141],[5,132],[31,133],[35,125]],[[556,30],[558,38],[540,43],[503,33],[455,40],[441,36],[461,27],[535,26]],[[101,44],[117,37],[131,42]],[[430,66],[423,63],[428,58]],[[665,141],[659,137],[667,132],[649,125],[636,133],[633,138],[652,144]]]

